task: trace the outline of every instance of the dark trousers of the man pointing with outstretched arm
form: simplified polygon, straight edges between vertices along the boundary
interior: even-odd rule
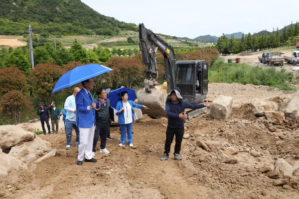
[[[184,127],[182,127],[182,128],[170,128],[170,127],[167,126],[166,140],[165,140],[165,151],[164,151],[164,153],[166,153],[167,156],[170,153],[170,146],[171,146],[171,143],[173,141],[174,135],[175,135],[174,153],[179,154],[180,147],[181,147],[182,140],[183,140],[183,135],[184,135]]]

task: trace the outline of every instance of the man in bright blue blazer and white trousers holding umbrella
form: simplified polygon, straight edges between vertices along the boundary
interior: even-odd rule
[[[92,145],[95,133],[95,107],[90,90],[93,88],[93,80],[81,82],[83,88],[76,95],[76,125],[80,131],[80,145],[77,165],[82,165],[85,154],[85,162],[97,162],[92,157]]]

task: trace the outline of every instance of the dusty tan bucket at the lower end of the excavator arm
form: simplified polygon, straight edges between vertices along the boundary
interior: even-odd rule
[[[155,87],[151,92],[145,89],[137,92],[138,103],[148,106],[148,110],[142,108],[143,114],[148,114],[152,118],[165,117],[165,102],[167,94],[160,87]]]

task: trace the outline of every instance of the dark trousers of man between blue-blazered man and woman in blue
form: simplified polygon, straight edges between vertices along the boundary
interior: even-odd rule
[[[110,124],[111,124],[111,121],[109,121],[107,123],[100,123],[100,122],[96,121],[96,130],[95,130],[94,141],[93,141],[93,145],[92,145],[93,152],[96,152],[96,147],[97,147],[100,133],[101,133],[100,148],[101,149],[106,148],[106,142],[107,142],[107,137],[108,137],[108,133],[110,130]]]

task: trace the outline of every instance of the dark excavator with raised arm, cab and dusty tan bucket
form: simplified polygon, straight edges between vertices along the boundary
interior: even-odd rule
[[[138,103],[149,107],[142,109],[143,114],[152,118],[166,116],[165,102],[167,93],[174,88],[180,89],[183,100],[197,104],[203,102],[208,94],[208,64],[204,60],[181,60],[176,61],[174,50],[161,37],[147,29],[143,23],[139,24],[139,47],[142,52],[145,88],[137,93]],[[158,87],[159,73],[156,64],[157,50],[164,57],[166,82],[163,87]],[[188,110],[187,119],[192,120],[207,110],[207,107],[196,110]]]

